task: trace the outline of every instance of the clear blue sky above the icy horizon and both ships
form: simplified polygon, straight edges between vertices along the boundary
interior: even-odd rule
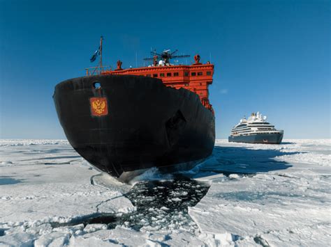
[[[113,67],[151,47],[212,54],[216,138],[252,111],[285,138],[330,138],[330,1],[0,4],[0,138],[65,138],[54,86],[84,75],[100,35]]]

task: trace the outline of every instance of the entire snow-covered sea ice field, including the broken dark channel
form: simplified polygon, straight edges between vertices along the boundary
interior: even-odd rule
[[[132,185],[64,140],[0,140],[0,246],[329,246],[331,140],[216,140]]]

